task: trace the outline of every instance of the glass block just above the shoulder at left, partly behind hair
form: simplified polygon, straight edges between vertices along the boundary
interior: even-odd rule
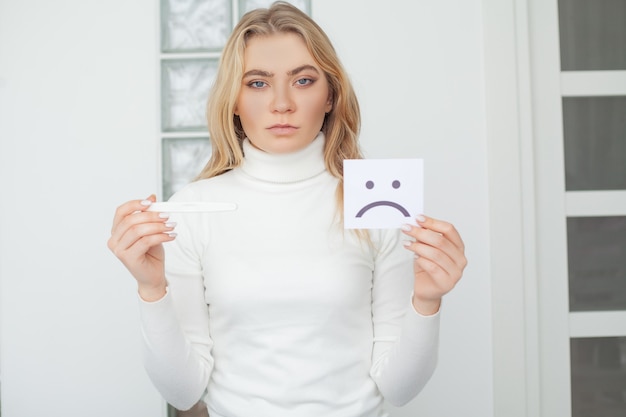
[[[211,156],[211,143],[204,138],[163,139],[163,200],[189,184]]]

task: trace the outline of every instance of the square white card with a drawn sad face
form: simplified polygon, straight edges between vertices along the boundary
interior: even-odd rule
[[[398,228],[424,210],[422,159],[346,159],[344,227]]]

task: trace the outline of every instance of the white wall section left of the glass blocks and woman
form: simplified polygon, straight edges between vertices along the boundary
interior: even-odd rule
[[[106,248],[155,191],[155,1],[0,2],[2,415],[159,416]]]

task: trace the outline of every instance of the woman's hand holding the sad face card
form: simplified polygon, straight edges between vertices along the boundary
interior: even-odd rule
[[[418,216],[417,223],[419,226],[402,228],[413,238],[405,242],[405,247],[415,253],[413,306],[418,313],[431,315],[463,275],[465,245],[450,223],[425,216]]]

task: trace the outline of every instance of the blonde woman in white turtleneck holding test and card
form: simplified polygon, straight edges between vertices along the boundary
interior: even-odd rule
[[[147,211],[151,196],[118,208],[109,240],[138,283],[156,387],[213,417],[383,416],[383,399],[411,400],[435,368],[463,242],[424,216],[343,229],[360,114],[324,32],[285,3],[246,14],[208,120],[211,160],[172,201],[237,210],[168,216]]]

